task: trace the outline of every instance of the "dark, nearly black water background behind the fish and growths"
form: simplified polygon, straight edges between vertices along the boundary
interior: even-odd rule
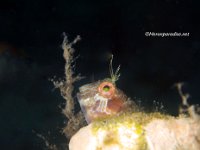
[[[146,110],[177,115],[185,82],[199,103],[199,2],[187,0],[6,0],[0,2],[0,149],[45,149],[43,135],[64,149],[64,105],[50,78],[64,77],[60,47],[75,45],[82,84],[109,77],[109,58],[121,64],[117,85]],[[189,32],[189,37],[146,37],[145,32]],[[163,108],[164,107],[164,108]]]

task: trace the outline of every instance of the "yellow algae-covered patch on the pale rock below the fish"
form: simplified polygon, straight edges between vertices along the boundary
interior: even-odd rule
[[[93,134],[99,149],[117,146],[119,149],[146,150],[147,143],[143,127],[153,119],[169,119],[171,116],[161,113],[124,113],[109,119],[93,122]]]

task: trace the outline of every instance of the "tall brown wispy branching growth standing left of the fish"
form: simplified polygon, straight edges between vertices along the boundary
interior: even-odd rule
[[[74,83],[82,79],[80,75],[75,75],[74,73],[74,48],[72,47],[80,40],[80,36],[77,36],[72,42],[68,41],[66,34],[64,33],[64,39],[62,43],[63,57],[65,59],[65,78],[61,81],[52,80],[55,88],[59,88],[62,97],[65,99],[65,107],[62,110],[63,114],[68,119],[66,127],[63,132],[70,138],[83,124],[83,114],[74,112]]]

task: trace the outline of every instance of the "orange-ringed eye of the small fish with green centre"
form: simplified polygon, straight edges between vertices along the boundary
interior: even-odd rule
[[[98,91],[102,96],[111,98],[115,93],[115,86],[111,82],[105,81],[99,85]]]

